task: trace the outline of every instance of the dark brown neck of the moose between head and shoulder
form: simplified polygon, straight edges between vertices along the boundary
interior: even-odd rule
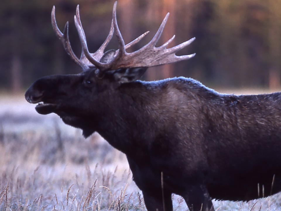
[[[155,82],[122,84],[107,98],[106,105],[100,106],[97,132],[126,154],[132,149],[145,152],[146,142],[152,136],[150,131],[157,131],[154,116],[163,94],[160,87],[152,86]]]

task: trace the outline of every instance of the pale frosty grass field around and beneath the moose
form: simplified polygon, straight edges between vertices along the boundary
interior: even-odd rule
[[[239,187],[237,187],[239,188]],[[173,196],[174,210],[188,210]],[[216,210],[281,210],[281,195],[213,200]],[[0,96],[0,211],[146,210],[126,157],[98,134],[39,115],[23,96]]]

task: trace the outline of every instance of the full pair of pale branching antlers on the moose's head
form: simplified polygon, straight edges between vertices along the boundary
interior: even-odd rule
[[[81,52],[80,59],[78,59],[78,57],[74,54],[69,42],[68,22],[66,22],[64,31],[63,33],[61,33],[61,31],[59,30],[56,24],[55,7],[53,7],[52,10],[53,29],[56,35],[58,36],[58,38],[61,40],[68,55],[70,55],[73,61],[76,62],[76,64],[80,65],[83,70],[89,69],[90,67],[94,67],[94,66],[99,68],[101,71],[114,70],[119,68],[131,68],[131,67],[152,67],[152,66],[158,66],[162,64],[169,64],[182,60],[187,60],[195,55],[195,53],[191,55],[182,55],[182,56],[175,55],[177,51],[189,45],[195,38],[191,38],[190,40],[187,40],[174,47],[167,48],[169,43],[171,43],[172,40],[174,40],[175,38],[175,35],[173,35],[172,38],[170,38],[163,45],[159,47],[155,47],[157,41],[162,35],[169,13],[167,13],[167,15],[165,16],[159,29],[155,33],[152,40],[150,40],[150,42],[148,42],[146,45],[141,47],[139,50],[136,50],[131,53],[126,52],[127,48],[138,43],[145,35],[148,34],[149,31],[143,33],[138,38],[125,45],[124,39],[121,35],[121,32],[117,24],[116,7],[117,7],[117,1],[115,1],[113,6],[111,27],[106,40],[95,53],[90,53],[87,46],[85,32],[83,30],[82,23],[80,20],[79,5],[77,5],[74,21],[82,45],[82,52]],[[119,50],[116,50],[114,56],[109,62],[103,63],[100,61],[100,59],[104,55],[104,50],[107,47],[109,41],[112,39],[114,28],[116,29],[116,37],[119,42]]]

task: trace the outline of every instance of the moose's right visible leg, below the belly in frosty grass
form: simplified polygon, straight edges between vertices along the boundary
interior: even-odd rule
[[[190,211],[215,211],[208,190],[203,185],[189,186],[182,196]]]

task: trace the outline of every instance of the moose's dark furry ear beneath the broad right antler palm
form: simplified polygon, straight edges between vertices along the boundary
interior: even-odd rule
[[[114,71],[113,77],[121,84],[138,80],[147,70],[147,67],[120,68]]]

